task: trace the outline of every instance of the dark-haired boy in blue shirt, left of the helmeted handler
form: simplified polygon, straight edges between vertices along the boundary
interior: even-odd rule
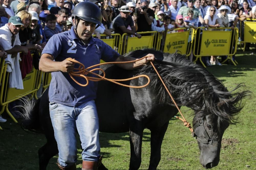
[[[54,34],[60,33],[56,28],[57,18],[54,14],[49,14],[46,17],[46,26],[44,29],[44,33],[46,39],[49,40]]]

